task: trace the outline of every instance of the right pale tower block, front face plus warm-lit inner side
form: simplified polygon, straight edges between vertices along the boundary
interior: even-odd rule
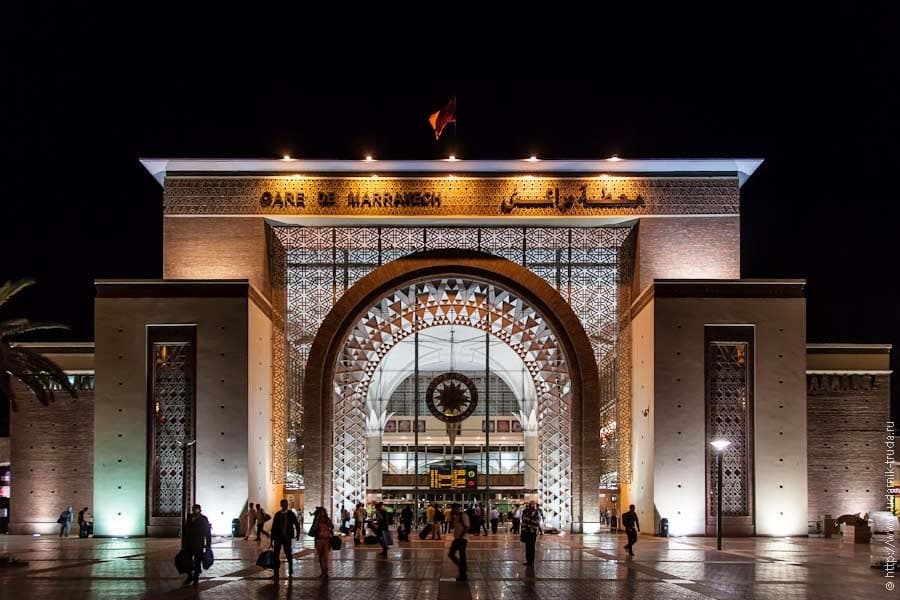
[[[673,535],[708,534],[706,330],[750,326],[755,369],[752,522],[727,535],[806,533],[806,301],[802,281],[657,281],[632,309],[635,479],[623,506],[669,519]],[[644,316],[652,311],[652,319]],[[649,529],[649,527],[648,527]]]

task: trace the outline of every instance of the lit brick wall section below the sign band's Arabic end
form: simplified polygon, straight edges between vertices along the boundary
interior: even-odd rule
[[[651,217],[638,224],[635,294],[654,279],[739,279],[740,217]]]

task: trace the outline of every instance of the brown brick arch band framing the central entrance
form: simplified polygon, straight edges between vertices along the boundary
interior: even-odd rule
[[[358,337],[360,320],[370,318],[373,307],[385,298],[396,297],[399,290],[414,289],[411,286],[423,282],[454,279],[493,286],[510,298],[520,299],[549,329],[545,337],[552,343],[548,346],[561,350],[570,379],[570,387],[566,390],[568,402],[562,418],[568,419],[567,430],[571,435],[571,472],[564,475],[571,480],[572,529],[580,531],[582,523],[597,521],[598,511],[596,486],[600,447],[596,420],[599,386],[590,341],[569,304],[543,279],[511,261],[473,251],[421,252],[388,263],[348,290],[326,316],[313,341],[303,387],[306,503],[333,504],[333,426],[336,422],[342,427],[355,423],[335,414],[335,377],[347,385],[364,387],[372,358],[377,362],[377,349],[357,353],[358,359],[369,357],[359,360],[358,366],[352,364],[354,361],[350,359],[353,357],[347,353],[348,340]],[[424,318],[420,326],[427,326]],[[357,333],[354,333],[355,328]],[[502,327],[492,329],[502,330]],[[535,369],[540,366],[535,365]],[[541,377],[534,369],[532,375]],[[552,377],[550,373],[547,375]],[[342,430],[340,433],[353,438],[364,436],[365,420],[353,425],[356,426],[362,430]]]

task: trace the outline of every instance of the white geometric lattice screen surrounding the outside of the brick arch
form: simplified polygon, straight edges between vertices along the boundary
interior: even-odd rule
[[[629,227],[271,227],[273,322],[283,315],[282,327],[276,323],[273,331],[273,370],[279,371],[273,373],[273,404],[279,405],[273,406],[273,415],[277,420],[284,414],[283,425],[273,422],[273,445],[280,446],[273,448],[273,456],[285,457],[283,467],[274,467],[281,469],[275,480],[302,485],[301,394],[312,340],[334,304],[362,277],[423,250],[471,249],[506,258],[540,276],[572,306],[600,364],[613,360],[618,350],[619,246],[629,231]],[[615,432],[616,420],[604,427]],[[618,456],[617,437],[608,439],[611,443],[604,452]]]

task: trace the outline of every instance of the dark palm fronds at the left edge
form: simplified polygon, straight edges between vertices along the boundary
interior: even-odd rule
[[[0,287],[0,308],[6,302],[34,284],[31,279],[8,281]],[[47,406],[54,400],[53,387],[62,388],[76,398],[75,386],[69,377],[53,361],[28,348],[13,345],[9,338],[40,329],[68,329],[57,323],[32,323],[28,319],[10,319],[0,322],[0,396],[17,410],[16,395],[8,375],[12,375],[34,392],[38,401]]]

